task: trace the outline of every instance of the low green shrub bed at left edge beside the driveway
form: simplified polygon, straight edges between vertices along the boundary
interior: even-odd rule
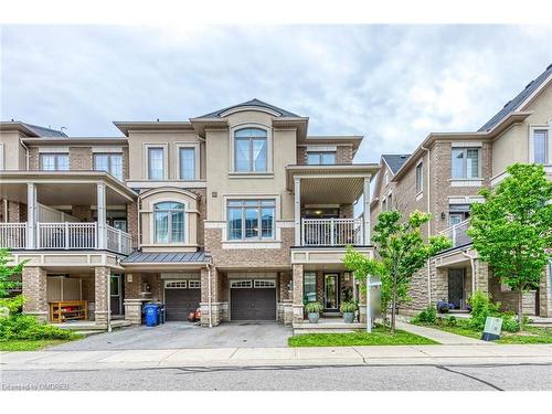
[[[12,315],[0,319],[0,341],[72,339],[74,336],[71,331],[41,323],[31,315]]]

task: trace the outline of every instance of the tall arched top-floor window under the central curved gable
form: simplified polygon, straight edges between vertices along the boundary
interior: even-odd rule
[[[267,134],[261,128],[243,128],[234,134],[236,172],[266,172]]]

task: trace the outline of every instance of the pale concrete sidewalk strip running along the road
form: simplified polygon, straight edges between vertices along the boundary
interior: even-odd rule
[[[552,344],[219,348],[3,352],[1,370],[178,367],[552,363]]]

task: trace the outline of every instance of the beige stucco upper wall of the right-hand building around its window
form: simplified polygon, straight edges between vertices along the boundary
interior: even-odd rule
[[[529,162],[529,131],[531,126],[543,126],[552,120],[552,84],[523,110],[532,114],[520,125],[499,136],[492,148],[492,176],[499,176],[514,162]],[[549,145],[549,159],[552,146]]]

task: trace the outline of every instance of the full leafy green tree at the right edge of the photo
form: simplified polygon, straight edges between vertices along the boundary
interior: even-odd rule
[[[523,291],[539,286],[552,248],[552,182],[542,166],[516,163],[484,203],[473,204],[468,234],[479,257],[518,293],[523,329]]]

